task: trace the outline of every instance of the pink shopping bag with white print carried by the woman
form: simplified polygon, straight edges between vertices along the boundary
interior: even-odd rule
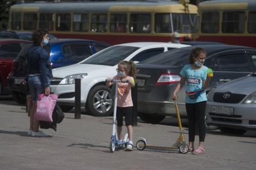
[[[52,112],[56,105],[58,96],[50,94],[45,96],[40,94],[37,101],[37,112],[35,113],[35,120],[52,122]]]

